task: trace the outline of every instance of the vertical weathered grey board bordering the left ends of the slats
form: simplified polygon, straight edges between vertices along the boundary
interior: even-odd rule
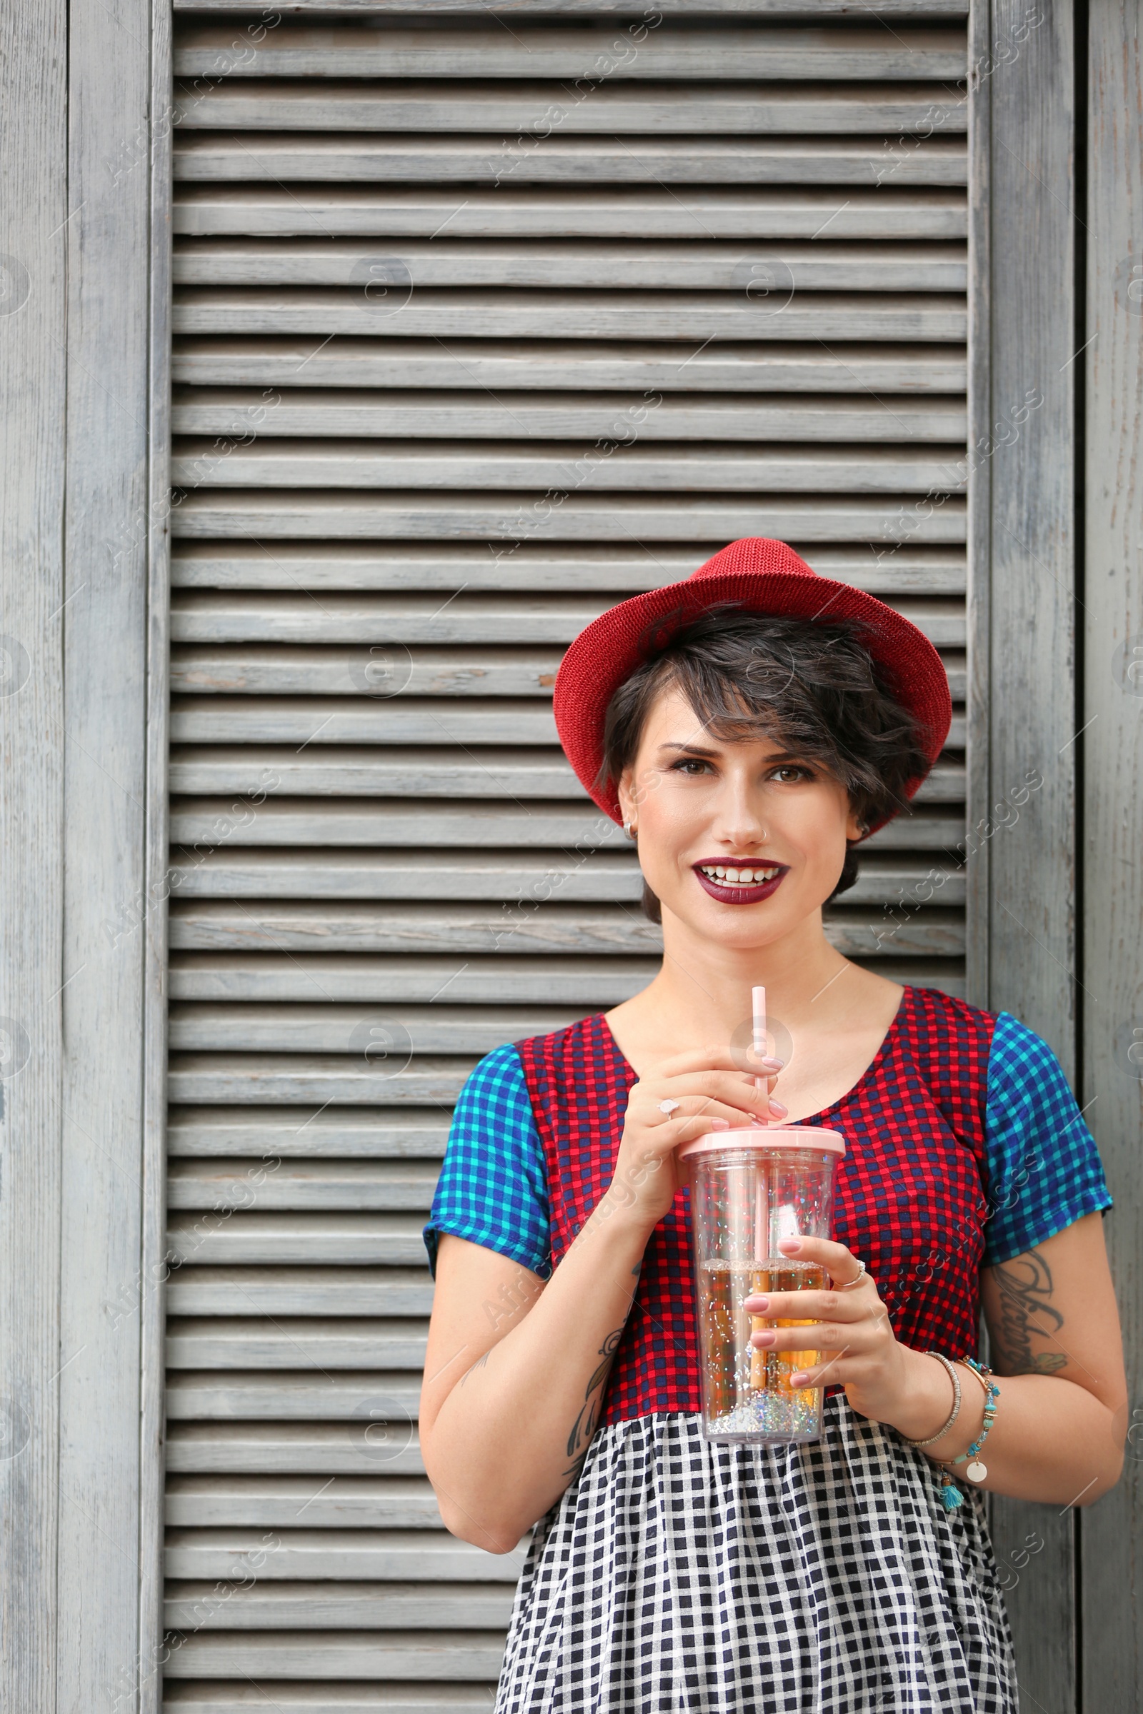
[[[67,425],[65,569],[63,588],[46,607],[55,619],[31,646],[39,655],[57,627],[65,638],[63,720],[41,728],[41,742],[63,756],[62,845],[39,845],[33,826],[24,828],[38,860],[60,862],[63,876],[62,956],[53,962],[46,946],[38,955],[50,975],[48,992],[57,998],[36,1020],[43,1037],[58,1010],[65,1044],[58,1236],[36,1262],[38,1280],[57,1267],[60,1275],[58,1325],[43,1351],[43,1385],[51,1388],[51,1376],[58,1376],[60,1441],[51,1484],[58,1488],[62,1551],[50,1596],[58,1616],[51,1690],[41,1697],[5,1695],[3,1702],[12,1709],[86,1709],[127,1692],[134,1711],[135,1661],[149,1645],[146,1635],[141,1639],[141,1615],[144,1623],[153,1621],[149,1608],[158,1592],[153,1505],[159,1423],[153,1388],[147,1421],[141,1423],[141,1320],[146,1313],[153,1327],[154,1306],[144,1309],[147,1294],[139,1289],[139,1181],[142,1047],[144,1039],[149,1049],[161,1040],[161,1004],[154,944],[146,948],[142,932],[118,929],[123,914],[137,924],[146,908],[147,833],[154,831],[154,824],[147,830],[144,807],[147,763],[156,754],[147,754],[146,734],[154,641],[147,595],[158,572],[147,528],[149,399],[165,382],[151,369],[153,19],[149,0],[127,0],[108,27],[99,3],[75,0],[63,36],[53,10],[31,9],[21,17],[21,33],[43,33],[53,65],[41,69],[36,103],[60,117],[55,65],[67,67],[67,142],[50,139],[38,122],[15,113],[5,122],[21,123],[29,142],[50,153],[53,175],[67,173],[65,206],[41,190],[45,230],[33,262],[36,295],[53,297],[57,286],[43,269],[53,250],[48,235],[55,231],[67,254],[67,410],[57,418]],[[120,175],[125,139],[135,139],[141,154],[135,171]],[[5,194],[21,171],[9,165]],[[27,183],[36,183],[34,171]],[[9,338],[27,339],[29,307],[9,321]],[[55,353],[41,351],[39,367],[50,377]],[[31,440],[31,425],[17,432]],[[33,483],[43,492],[39,471]],[[39,543],[34,555],[36,564],[21,567],[17,578],[43,584],[51,579],[51,555],[43,559]],[[159,730],[159,744],[161,737]],[[161,809],[158,818],[161,824]],[[115,931],[108,932],[108,922]],[[153,1107],[147,1116],[154,1118]],[[147,1166],[156,1160],[154,1142],[153,1135]],[[154,1179],[147,1186],[147,1212],[154,1210],[158,1188]],[[58,1263],[51,1260],[57,1243]],[[132,1296],[127,1315],[108,1313],[110,1303]],[[43,1402],[36,1414],[41,1409]],[[108,1551],[110,1541],[117,1549]],[[141,1575],[142,1558],[147,1570]],[[22,1561],[22,1551],[5,1556],[9,1577],[21,1584]],[[10,1642],[7,1627],[5,1635]],[[144,1699],[147,1693],[142,1690]]]

